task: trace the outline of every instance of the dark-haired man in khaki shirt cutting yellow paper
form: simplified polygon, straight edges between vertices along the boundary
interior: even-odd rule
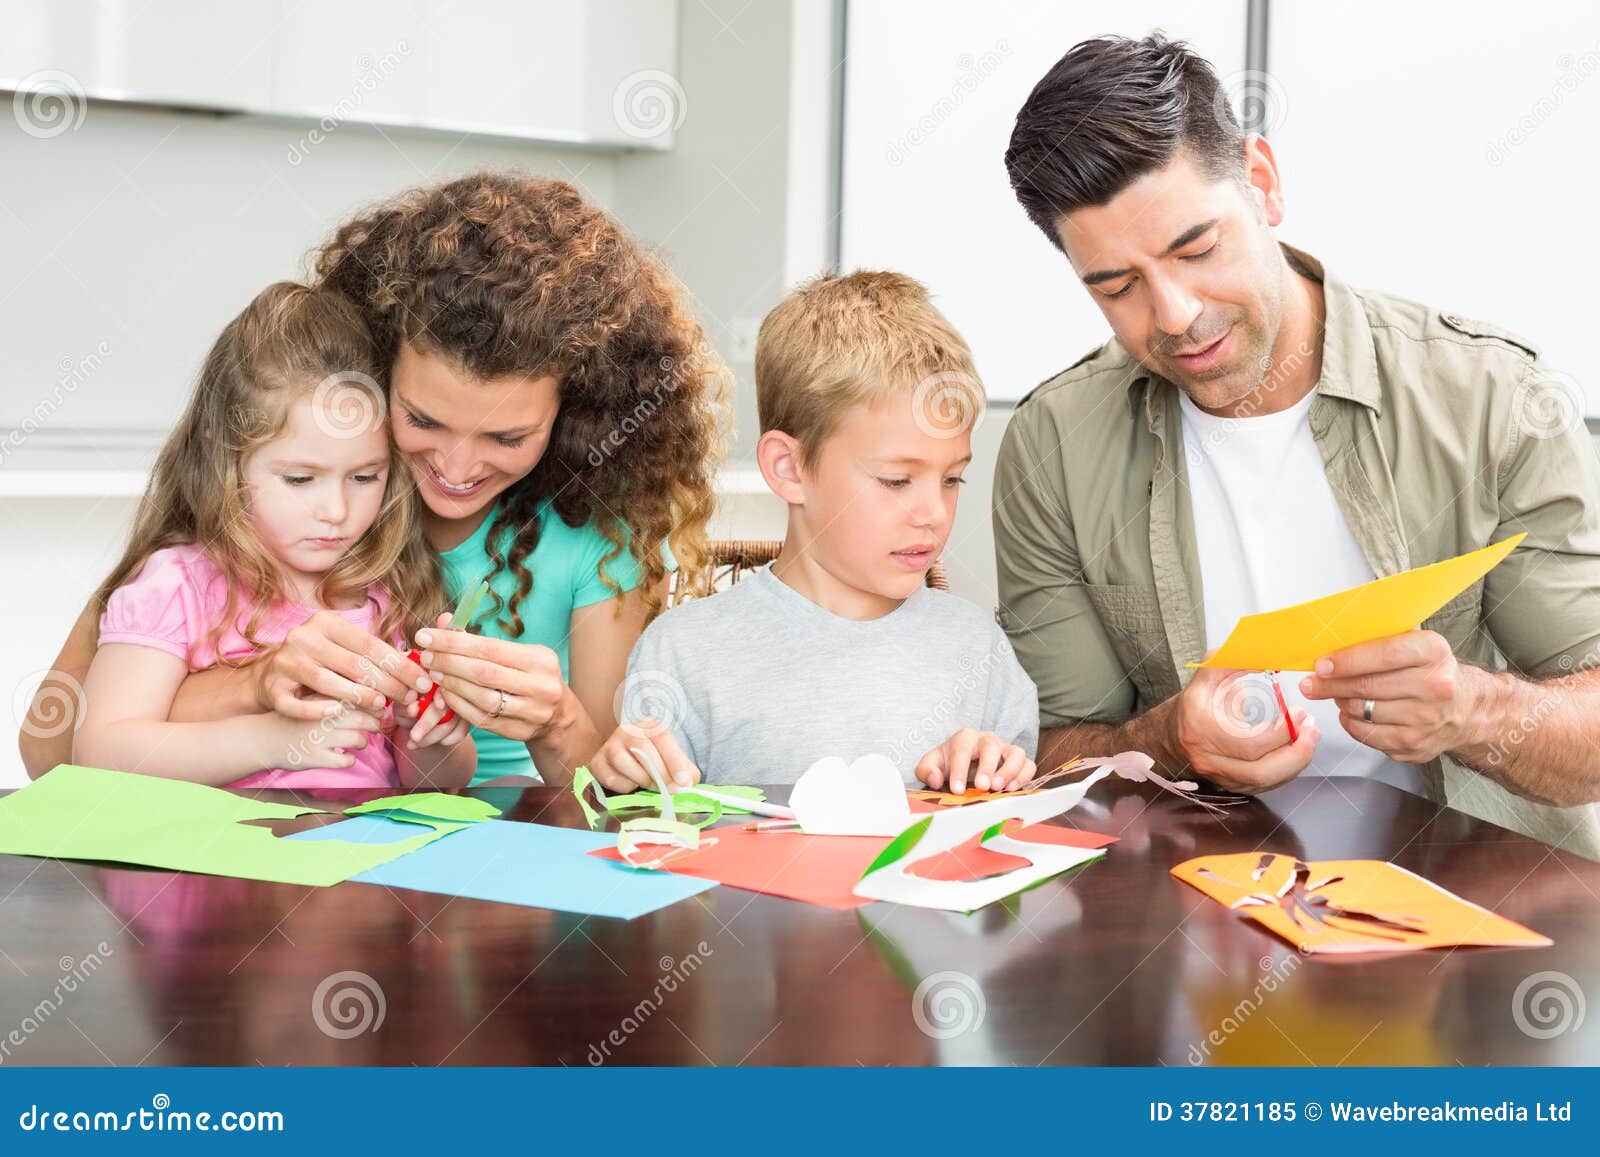
[[[1600,858],[1600,461],[1538,352],[1280,246],[1272,147],[1158,35],[1067,53],[1006,170],[1115,334],[1022,400],[995,472],[1038,765],[1360,775]],[[1296,739],[1264,675],[1187,667],[1242,615],[1520,531],[1422,629],[1285,677]]]

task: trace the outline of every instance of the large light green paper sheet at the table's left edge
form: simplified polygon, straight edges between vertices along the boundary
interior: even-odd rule
[[[181,779],[62,763],[0,799],[0,853],[326,887],[466,827],[395,813],[430,831],[394,843],[349,843],[282,840],[245,823],[304,815],[326,813]]]

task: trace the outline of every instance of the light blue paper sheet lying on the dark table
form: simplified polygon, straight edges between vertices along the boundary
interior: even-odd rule
[[[389,843],[414,832],[414,826],[392,819],[352,816],[286,839]],[[616,847],[614,834],[485,819],[350,879],[386,888],[622,920],[717,887],[715,880],[643,872],[587,855],[606,847]]]

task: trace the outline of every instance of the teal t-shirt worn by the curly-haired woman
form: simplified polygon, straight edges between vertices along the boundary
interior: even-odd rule
[[[494,568],[494,563],[490,562],[488,539],[496,514],[499,514],[499,506],[490,510],[469,539],[443,552],[445,584],[450,587],[451,599],[456,599],[467,584],[488,578]],[[600,579],[598,570],[600,560],[613,547],[592,522],[582,526],[568,526],[547,501],[539,504],[538,518],[539,542],[523,562],[533,573],[533,591],[522,600],[522,635],[512,639],[501,623],[507,616],[504,603],[509,603],[517,592],[517,576],[510,570],[502,570],[490,579],[490,589],[501,597],[502,608],[493,616],[486,610],[480,611],[477,631],[496,639],[512,639],[517,643],[549,647],[562,661],[562,679],[565,680],[570,677],[566,640],[573,629],[573,611],[616,595]],[[506,554],[510,552],[510,539],[512,528],[507,526],[501,536]],[[638,560],[627,549],[605,565],[605,573],[624,592],[637,587],[643,578]],[[486,608],[488,600],[483,605]],[[472,728],[472,739],[478,747],[478,770],[472,776],[474,784],[502,775],[538,775],[526,744],[477,727]]]

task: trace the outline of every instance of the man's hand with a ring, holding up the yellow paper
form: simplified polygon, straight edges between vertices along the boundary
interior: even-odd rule
[[[1358,743],[1402,763],[1427,763],[1475,743],[1475,671],[1456,663],[1443,635],[1410,631],[1317,659],[1301,693],[1338,703],[1339,723]]]

